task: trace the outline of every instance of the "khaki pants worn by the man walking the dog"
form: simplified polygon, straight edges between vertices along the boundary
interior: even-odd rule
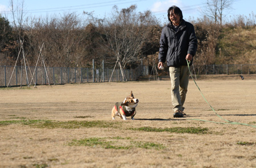
[[[188,66],[170,67],[171,78],[171,96],[174,112],[176,110],[183,111],[183,104],[185,102],[188,91],[189,70]]]

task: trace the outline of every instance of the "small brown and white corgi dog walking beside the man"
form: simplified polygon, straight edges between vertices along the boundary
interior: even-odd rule
[[[131,116],[131,119],[134,120],[136,114],[135,107],[139,103],[138,99],[135,99],[133,96],[133,91],[131,94],[123,100],[123,102],[115,103],[115,106],[112,108],[112,119],[115,119],[115,116],[121,117],[123,120],[127,120],[126,117]]]

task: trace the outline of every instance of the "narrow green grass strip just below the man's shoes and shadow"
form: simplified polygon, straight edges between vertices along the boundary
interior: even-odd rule
[[[146,131],[146,132],[172,132],[172,133],[208,133],[208,128],[201,127],[173,127],[173,128],[129,128],[134,131]]]

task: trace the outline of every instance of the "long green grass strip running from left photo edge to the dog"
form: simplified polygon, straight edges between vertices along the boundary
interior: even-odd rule
[[[118,122],[108,121],[52,121],[52,120],[10,120],[0,121],[0,126],[10,124],[23,124],[36,128],[64,128],[64,129],[76,129],[76,128],[117,128]]]

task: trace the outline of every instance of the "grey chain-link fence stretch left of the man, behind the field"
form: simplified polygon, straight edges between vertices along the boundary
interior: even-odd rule
[[[42,68],[24,66],[0,66],[0,86],[48,85],[64,83],[122,81],[120,69],[93,68]],[[139,65],[136,69],[125,69],[127,81],[136,81],[148,75],[148,66]],[[112,78],[110,79],[112,75]]]

